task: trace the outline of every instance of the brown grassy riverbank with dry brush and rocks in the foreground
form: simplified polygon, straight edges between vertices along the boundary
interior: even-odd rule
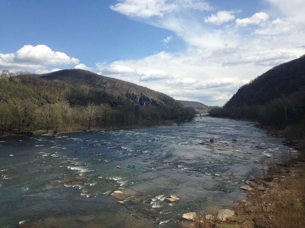
[[[192,223],[184,223],[181,227],[303,228],[305,162],[296,162],[289,168],[285,168],[284,164],[274,164],[267,168],[261,167],[261,177],[247,180],[247,185],[242,186],[249,192],[247,199],[228,210],[232,215],[224,219],[225,221],[221,221],[219,213],[199,213]],[[218,212],[216,207],[214,210],[214,206],[210,207],[209,212]]]

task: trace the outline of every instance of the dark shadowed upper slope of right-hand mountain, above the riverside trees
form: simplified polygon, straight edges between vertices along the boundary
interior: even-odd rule
[[[225,107],[264,105],[274,98],[298,91],[305,94],[305,55],[273,67],[242,86]]]

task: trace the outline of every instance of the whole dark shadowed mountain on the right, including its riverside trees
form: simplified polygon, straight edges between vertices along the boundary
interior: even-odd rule
[[[210,115],[252,119],[265,126],[284,129],[288,139],[303,138],[305,55],[273,67],[243,85],[223,108],[212,109]]]

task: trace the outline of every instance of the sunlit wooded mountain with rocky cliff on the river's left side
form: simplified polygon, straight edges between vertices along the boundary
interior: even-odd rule
[[[170,96],[130,82],[72,69],[49,74],[0,74],[0,130],[61,132],[190,121]]]

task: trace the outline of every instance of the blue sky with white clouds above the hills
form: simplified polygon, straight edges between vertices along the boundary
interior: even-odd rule
[[[305,1],[0,0],[0,70],[81,68],[223,105],[305,54]]]

